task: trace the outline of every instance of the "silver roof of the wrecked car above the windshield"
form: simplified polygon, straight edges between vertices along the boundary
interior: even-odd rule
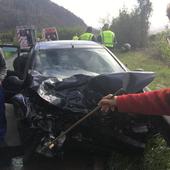
[[[35,45],[35,49],[58,49],[58,48],[103,48],[100,44],[93,41],[82,40],[57,40],[43,41]]]

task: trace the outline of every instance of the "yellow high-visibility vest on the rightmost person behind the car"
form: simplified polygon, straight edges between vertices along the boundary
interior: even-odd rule
[[[102,44],[104,44],[104,46],[106,47],[114,46],[115,34],[112,31],[106,30],[106,31],[103,31],[100,35],[102,38]]]

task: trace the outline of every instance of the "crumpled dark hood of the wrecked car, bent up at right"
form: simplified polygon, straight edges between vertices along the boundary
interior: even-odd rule
[[[31,88],[41,98],[61,109],[86,113],[96,106],[102,96],[121,88],[127,93],[139,92],[154,77],[153,72],[122,72],[98,76],[78,74],[60,80],[33,72]]]

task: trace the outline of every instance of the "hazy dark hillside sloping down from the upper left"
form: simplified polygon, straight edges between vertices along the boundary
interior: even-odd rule
[[[37,28],[86,26],[82,19],[50,0],[0,0],[0,31],[31,24]]]

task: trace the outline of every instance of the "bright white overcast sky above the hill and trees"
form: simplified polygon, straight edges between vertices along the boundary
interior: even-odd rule
[[[87,25],[100,28],[101,18],[112,18],[119,14],[123,6],[129,10],[137,4],[136,0],[51,0],[60,6],[70,10],[84,20]],[[151,0],[153,12],[151,30],[164,28],[168,24],[166,7],[170,0]]]

